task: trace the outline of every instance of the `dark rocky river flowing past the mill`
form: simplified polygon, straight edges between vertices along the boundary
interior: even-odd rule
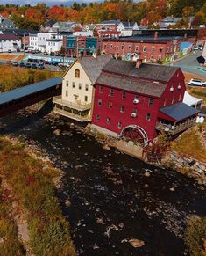
[[[206,215],[204,187],[174,170],[103,150],[93,137],[68,124],[24,110],[0,119],[0,133],[37,144],[64,171],[58,196],[77,253],[186,255],[187,217]],[[60,136],[53,134],[56,128],[62,130]],[[131,238],[145,246],[132,247]]]

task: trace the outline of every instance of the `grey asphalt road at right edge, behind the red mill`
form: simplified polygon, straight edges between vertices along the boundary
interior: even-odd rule
[[[187,57],[183,57],[181,60],[170,63],[169,65],[173,65],[174,67],[180,67],[183,72],[194,74],[194,78],[206,78],[206,68],[205,71],[202,69],[198,69],[202,67],[196,60],[196,58],[201,55],[202,51],[196,51],[194,55],[188,55]]]

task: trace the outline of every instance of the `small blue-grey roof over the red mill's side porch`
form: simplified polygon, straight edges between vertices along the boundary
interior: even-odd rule
[[[194,107],[188,106],[183,102],[176,103],[170,106],[164,106],[160,108],[160,112],[167,114],[172,117],[175,121],[181,121],[189,116],[193,116],[199,113]]]

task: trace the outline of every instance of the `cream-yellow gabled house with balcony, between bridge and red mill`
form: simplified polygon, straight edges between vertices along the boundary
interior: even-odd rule
[[[76,121],[91,121],[94,84],[110,55],[76,59],[63,76],[60,97],[54,97],[54,113]]]

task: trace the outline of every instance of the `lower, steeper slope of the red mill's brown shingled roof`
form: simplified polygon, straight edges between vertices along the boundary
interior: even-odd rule
[[[132,91],[138,94],[145,94],[160,98],[165,91],[167,84],[153,83],[139,77],[122,77],[115,74],[102,72],[96,80],[96,84],[103,84],[124,91]]]

